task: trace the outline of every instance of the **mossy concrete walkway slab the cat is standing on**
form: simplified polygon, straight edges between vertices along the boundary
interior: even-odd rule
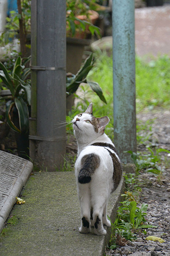
[[[111,195],[113,219],[123,178]],[[0,235],[1,256],[103,256],[110,236],[80,234],[80,207],[74,172],[36,173],[21,191],[26,203],[15,204]]]

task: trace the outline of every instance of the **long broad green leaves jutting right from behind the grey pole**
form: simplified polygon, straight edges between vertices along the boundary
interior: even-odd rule
[[[92,69],[94,65],[95,60],[93,59],[93,54],[91,53],[88,58],[86,58],[83,66],[79,71],[76,73],[75,77],[73,77],[71,80],[67,79],[66,83],[66,91],[71,94],[75,93],[76,90],[78,89],[80,83],[87,83],[91,89],[99,96],[99,98],[106,103],[106,99],[103,95],[102,89],[99,86],[98,83],[92,82],[86,79],[86,76],[88,75],[89,71]]]

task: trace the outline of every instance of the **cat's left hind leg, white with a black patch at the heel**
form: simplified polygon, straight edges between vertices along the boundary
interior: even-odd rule
[[[91,232],[90,227],[90,212],[91,212],[91,202],[90,202],[90,190],[89,184],[81,184],[79,186],[79,201],[81,207],[81,227],[79,228],[80,233]]]

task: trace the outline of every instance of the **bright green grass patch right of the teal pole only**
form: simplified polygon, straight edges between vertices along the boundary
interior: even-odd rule
[[[136,101],[139,110],[170,103],[170,58],[161,56],[144,62],[136,58]]]

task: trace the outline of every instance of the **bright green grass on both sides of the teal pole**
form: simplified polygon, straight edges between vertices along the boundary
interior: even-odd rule
[[[97,60],[89,72],[89,78],[104,88],[106,101],[113,109],[112,57],[108,57],[104,52],[96,53],[96,56]],[[154,66],[151,66],[151,63],[136,57],[137,111],[170,105],[170,58],[165,55],[154,59]],[[96,98],[93,103],[95,102]]]

